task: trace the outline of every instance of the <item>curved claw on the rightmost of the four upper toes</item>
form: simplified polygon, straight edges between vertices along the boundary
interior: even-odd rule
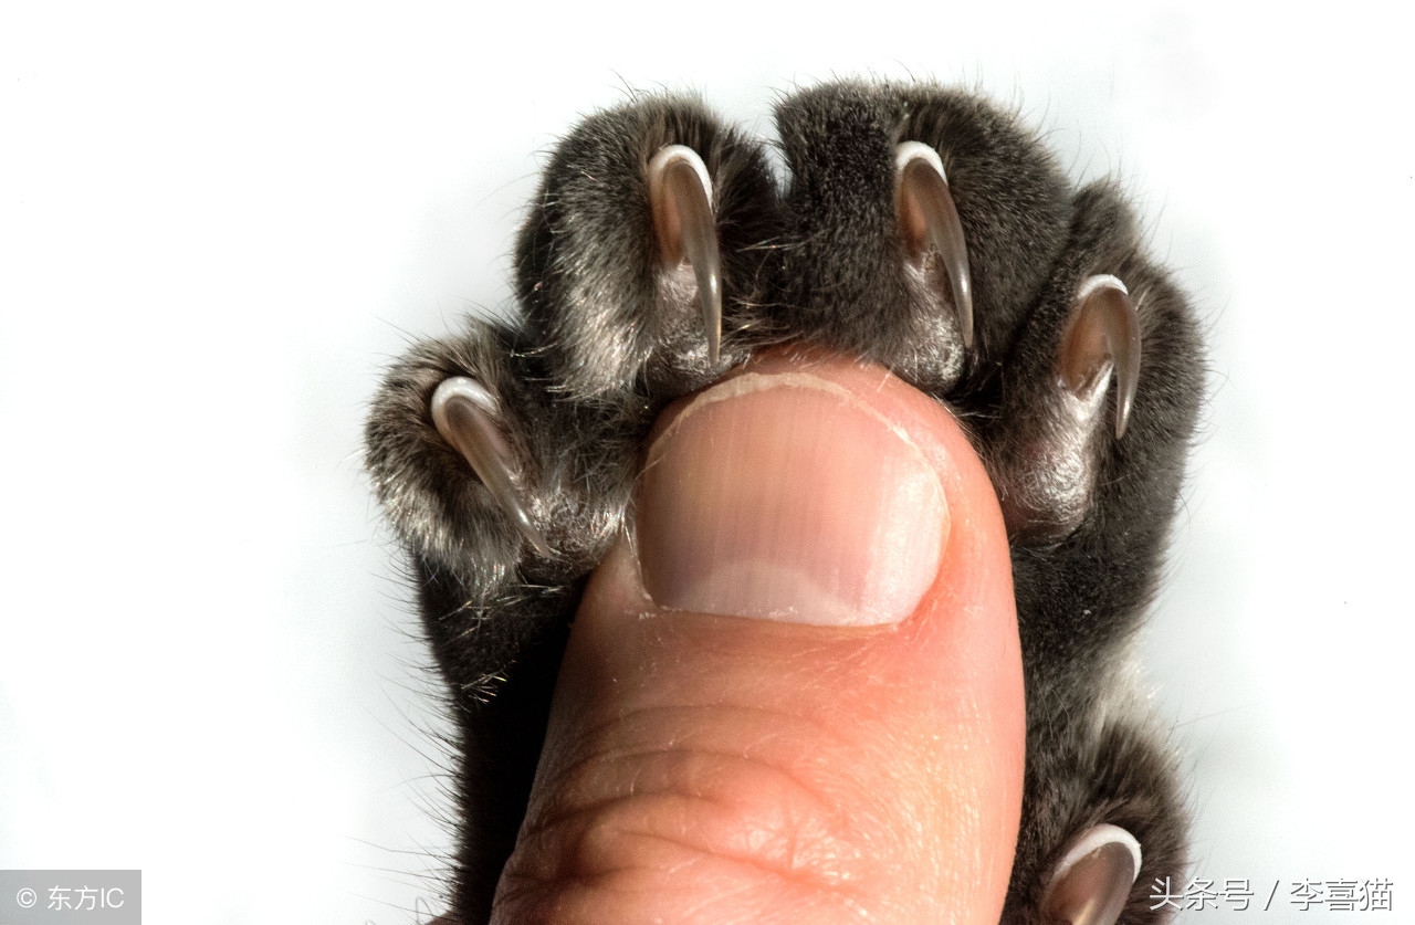
[[[1104,389],[1115,372],[1115,438],[1125,436],[1140,380],[1140,321],[1125,283],[1092,276],[1075,294],[1071,324],[1061,337],[1058,372],[1077,395]]]

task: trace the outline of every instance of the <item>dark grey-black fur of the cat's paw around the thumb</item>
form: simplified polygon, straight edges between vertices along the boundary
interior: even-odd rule
[[[1183,881],[1173,758],[1126,683],[1128,644],[1155,590],[1203,390],[1184,296],[1142,253],[1114,185],[1080,191],[1034,136],[978,98],[928,85],[832,83],[777,110],[791,171],[778,192],[760,147],[693,99],[654,96],[586,119],[555,151],[516,248],[525,322],[470,322],[391,372],[368,424],[368,467],[405,537],[424,625],[461,737],[464,830],[454,911],[485,921],[524,815],[566,624],[604,554],[640,444],[672,399],[753,351],[811,342],[873,359],[971,426],[1005,509],[1027,683],[1027,775],[1005,921],[1039,922],[1050,867],[1098,822],[1131,830],[1145,866],[1124,921],[1152,922],[1156,878]],[[934,146],[968,242],[976,339],[965,351],[945,281],[906,270],[893,150]],[[709,363],[692,287],[658,269],[644,168],[689,144],[715,182],[723,355]],[[1057,429],[1054,362],[1077,284],[1119,276],[1143,335],[1129,433],[1107,410],[1078,444],[1081,505],[1022,504]],[[443,443],[429,397],[449,375],[497,393],[538,557]],[[1112,389],[1114,392],[1114,389]],[[1111,399],[1114,400],[1114,399]],[[1040,443],[1039,443],[1040,441]],[[1010,506],[1009,506],[1010,505]],[[1029,506],[1030,505],[1030,506]]]

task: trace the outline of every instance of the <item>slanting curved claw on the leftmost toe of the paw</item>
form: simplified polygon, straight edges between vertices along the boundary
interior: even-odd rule
[[[531,522],[511,474],[515,471],[511,447],[497,424],[497,399],[475,379],[451,376],[433,392],[433,424],[437,433],[471,464],[497,504],[542,556],[550,554],[541,530]]]

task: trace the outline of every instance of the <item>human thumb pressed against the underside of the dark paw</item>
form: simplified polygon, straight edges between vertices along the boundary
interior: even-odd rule
[[[1023,721],[958,423],[877,366],[757,362],[649,441],[494,921],[996,922]]]

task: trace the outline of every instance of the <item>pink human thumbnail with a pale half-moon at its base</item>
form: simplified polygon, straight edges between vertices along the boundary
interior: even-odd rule
[[[649,448],[644,587],[662,607],[835,627],[899,622],[938,573],[938,472],[860,396],[805,372],[699,395]]]

